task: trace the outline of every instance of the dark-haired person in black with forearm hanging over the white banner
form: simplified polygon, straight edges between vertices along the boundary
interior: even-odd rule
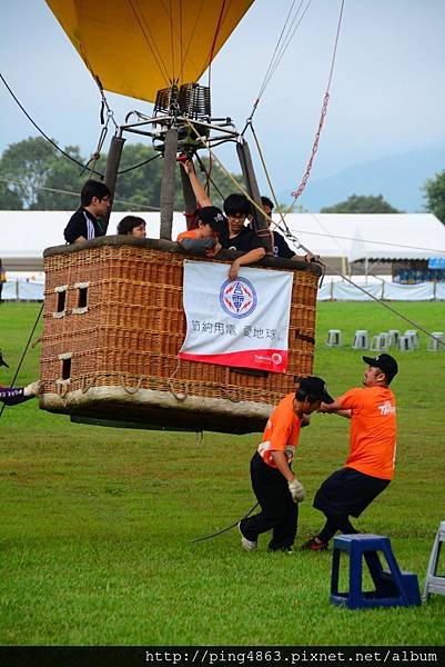
[[[185,173],[190,178],[196,202],[200,208],[213,206],[212,200],[200,183],[194,170],[193,161],[186,160],[181,162]],[[220,243],[227,250],[237,250],[244,252],[237,257],[229,269],[229,278],[235,280],[240,271],[240,267],[254,263],[265,256],[265,248],[257,236],[244,226],[245,220],[251,213],[251,205],[244,195],[230,195],[224,200],[225,218],[219,230],[218,236]]]

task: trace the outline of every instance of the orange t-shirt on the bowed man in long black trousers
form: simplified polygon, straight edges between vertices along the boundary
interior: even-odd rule
[[[295,394],[287,394],[272,412],[259,445],[257,452],[267,466],[276,468],[272,451],[284,451],[289,465],[295,456],[302,420],[295,415],[293,401]]]

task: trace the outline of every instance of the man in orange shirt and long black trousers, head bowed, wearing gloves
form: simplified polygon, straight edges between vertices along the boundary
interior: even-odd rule
[[[295,394],[289,394],[270,417],[262,442],[251,460],[252,488],[261,506],[253,517],[239,525],[241,544],[247,551],[257,548],[257,538],[272,529],[270,551],[292,551],[299,506],[304,489],[292,471],[300,429],[306,415],[333,401],[322,378],[301,379]]]

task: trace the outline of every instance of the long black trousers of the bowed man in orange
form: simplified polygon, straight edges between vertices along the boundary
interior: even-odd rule
[[[261,511],[241,521],[243,535],[256,541],[259,535],[272,529],[270,549],[292,547],[299,521],[299,506],[292,500],[287,481],[280,470],[267,466],[257,452],[251,460],[251,479]]]

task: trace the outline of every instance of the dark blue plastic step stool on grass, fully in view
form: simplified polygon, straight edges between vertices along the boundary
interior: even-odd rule
[[[350,590],[338,593],[340,556],[350,555]],[[383,551],[390,570],[382,567],[378,551]],[[362,590],[363,557],[375,590]],[[409,607],[421,605],[417,576],[401,571],[391,549],[388,537],[380,535],[340,535],[334,538],[331,574],[331,604],[350,609],[370,607]]]

